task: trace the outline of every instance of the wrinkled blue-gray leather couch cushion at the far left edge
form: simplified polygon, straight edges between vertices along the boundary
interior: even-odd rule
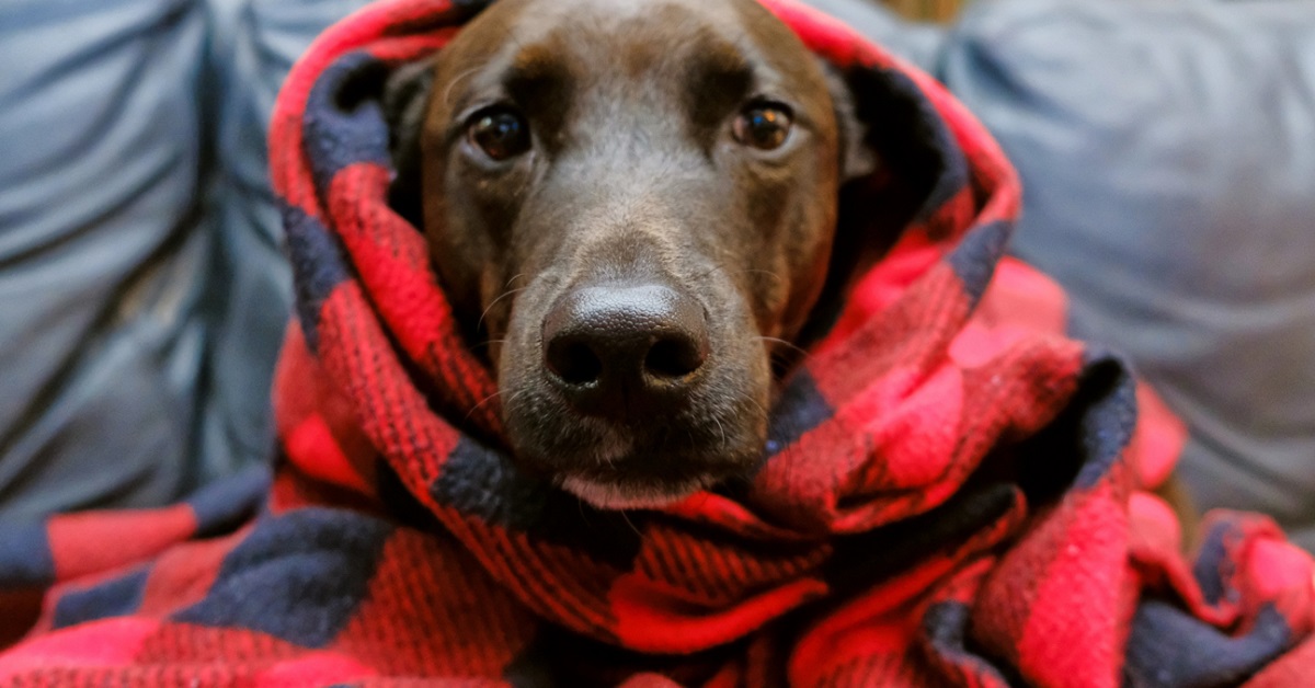
[[[0,520],[189,480],[205,41],[191,0],[0,4]]]

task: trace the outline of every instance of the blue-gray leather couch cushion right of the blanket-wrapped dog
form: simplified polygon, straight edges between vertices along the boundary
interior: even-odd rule
[[[1015,250],[1189,422],[1201,503],[1315,546],[1315,5],[984,3],[943,66],[1022,174]]]

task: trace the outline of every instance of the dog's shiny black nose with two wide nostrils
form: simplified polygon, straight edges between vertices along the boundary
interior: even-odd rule
[[[707,320],[694,299],[672,287],[581,287],[544,317],[543,355],[583,413],[660,410],[704,366]]]

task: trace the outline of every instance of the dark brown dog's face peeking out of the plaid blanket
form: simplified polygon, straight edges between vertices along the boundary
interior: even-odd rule
[[[835,80],[753,0],[500,0],[425,68],[398,164],[517,460],[605,508],[753,467],[864,166]]]

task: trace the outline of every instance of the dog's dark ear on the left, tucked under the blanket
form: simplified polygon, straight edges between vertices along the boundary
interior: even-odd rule
[[[388,147],[397,171],[388,201],[417,228],[422,222],[419,135],[433,86],[434,62],[412,62],[393,70],[384,83],[381,99],[391,133]]]

